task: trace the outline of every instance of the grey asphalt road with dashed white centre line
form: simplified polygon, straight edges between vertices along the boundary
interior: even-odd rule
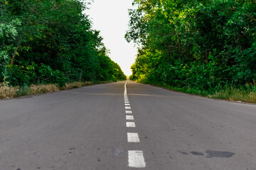
[[[0,101],[0,170],[256,169],[255,105],[124,84]]]

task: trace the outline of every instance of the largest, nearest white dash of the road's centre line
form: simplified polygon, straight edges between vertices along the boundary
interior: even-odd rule
[[[130,150],[128,151],[128,166],[132,168],[144,168],[146,163],[143,156],[143,151]]]

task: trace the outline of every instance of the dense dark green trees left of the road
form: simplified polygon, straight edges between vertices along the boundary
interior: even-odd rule
[[[126,79],[78,0],[0,0],[0,82]]]

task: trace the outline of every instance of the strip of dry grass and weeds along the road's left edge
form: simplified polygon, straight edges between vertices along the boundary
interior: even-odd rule
[[[31,86],[8,86],[6,84],[0,84],[0,99],[16,98],[20,96],[28,96],[34,94],[45,94],[53,91],[74,89],[82,86],[90,86],[93,84],[104,84],[110,82],[113,81],[75,81],[72,83],[66,83],[63,87],[60,87],[57,84],[31,84]]]

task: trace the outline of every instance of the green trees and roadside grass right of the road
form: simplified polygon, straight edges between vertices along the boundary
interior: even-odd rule
[[[134,0],[130,79],[256,103],[256,1]]]

